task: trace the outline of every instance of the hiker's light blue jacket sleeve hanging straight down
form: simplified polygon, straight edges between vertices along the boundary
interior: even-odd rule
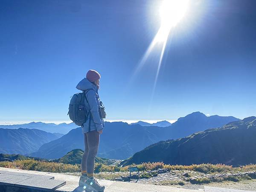
[[[95,92],[93,90],[89,90],[87,92],[87,100],[90,106],[90,112],[92,114],[93,117],[93,122],[96,125],[96,129],[97,131],[100,131],[103,129],[102,127],[102,121],[101,118],[99,116],[99,105],[96,101],[96,96],[95,96]]]

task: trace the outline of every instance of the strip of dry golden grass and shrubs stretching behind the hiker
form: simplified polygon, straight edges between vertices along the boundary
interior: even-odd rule
[[[224,173],[224,172],[247,172],[247,171],[256,171],[256,165],[250,164],[241,167],[227,166],[224,164],[200,164],[200,165],[166,165],[163,162],[156,163],[143,163],[140,165],[131,165],[138,166],[140,171],[156,170],[156,169],[169,169],[169,170],[191,170],[196,172],[204,173]],[[108,166],[105,164],[95,163],[95,172],[127,172],[128,167],[118,167],[118,166]],[[64,163],[55,163],[47,161],[38,161],[38,160],[15,160],[13,162],[2,161],[0,162],[0,167],[12,168],[12,169],[25,169],[25,170],[34,170],[42,172],[81,172],[80,164],[71,165]]]

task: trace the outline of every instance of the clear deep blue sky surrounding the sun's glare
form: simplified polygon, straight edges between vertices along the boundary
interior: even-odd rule
[[[160,0],[1,0],[0,123],[67,122],[87,70],[108,119],[256,115],[256,1],[193,0],[138,69]],[[154,90],[154,94],[152,95]]]

